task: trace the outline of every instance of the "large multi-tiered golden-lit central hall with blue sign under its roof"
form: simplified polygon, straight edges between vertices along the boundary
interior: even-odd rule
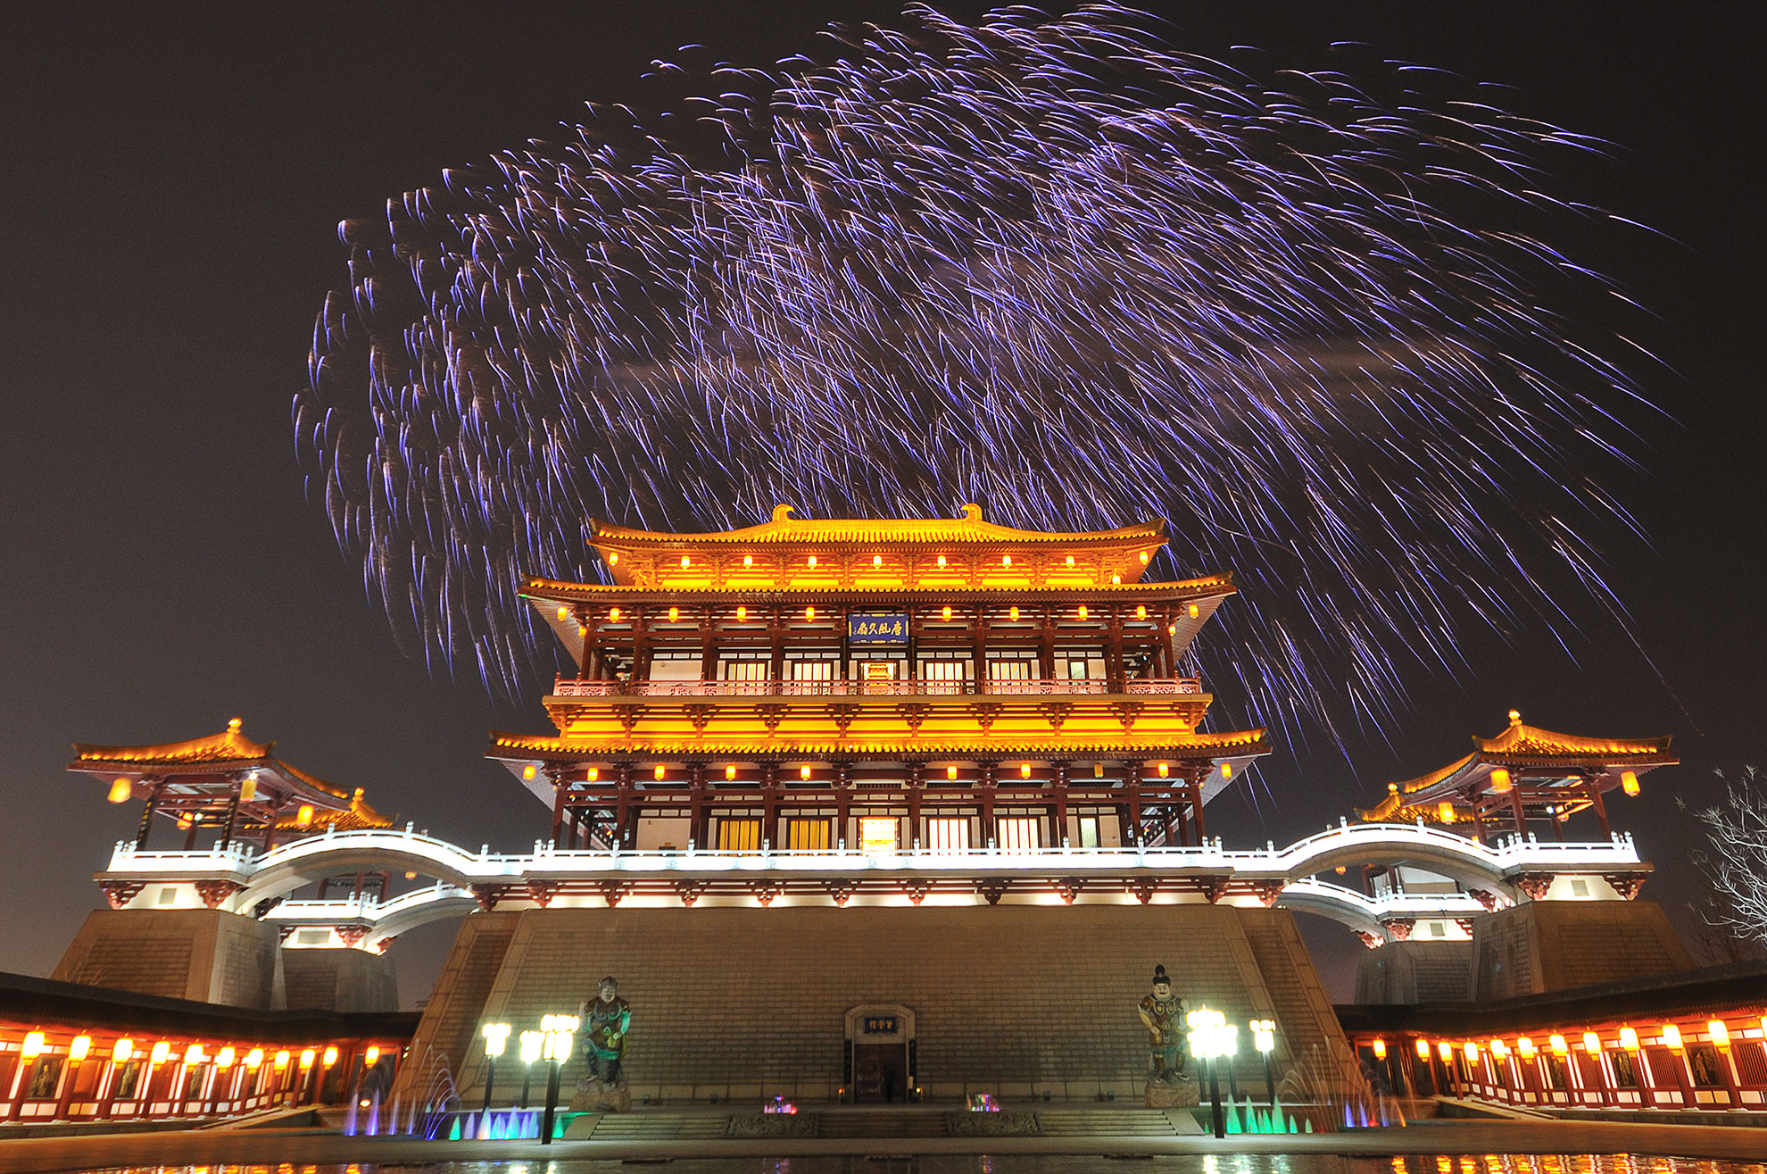
[[[1179,665],[1233,583],[1143,582],[1164,522],[790,515],[595,523],[613,583],[525,583],[578,674],[544,700],[555,736],[493,734],[489,755],[551,806],[557,847],[1200,845],[1205,803],[1269,753],[1262,730],[1200,730],[1210,697]],[[1012,888],[990,884],[990,903]]]

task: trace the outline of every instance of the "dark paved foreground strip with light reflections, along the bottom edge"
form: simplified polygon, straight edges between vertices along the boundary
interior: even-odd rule
[[[887,1112],[887,1110],[885,1110]],[[456,1163],[650,1163],[671,1169],[762,1169],[783,1174],[806,1170],[1083,1170],[1120,1169],[1117,1160],[1156,1160],[1159,1169],[1196,1169],[1203,1174],[1311,1174],[1357,1169],[1380,1160],[1391,1170],[1465,1170],[1493,1174],[1574,1174],[1590,1170],[1668,1172],[1656,1158],[1698,1158],[1746,1163],[1700,1170],[1767,1170],[1767,1130],[1733,1126],[1673,1126],[1585,1121],[1422,1121],[1408,1128],[1355,1130],[1313,1135],[1212,1137],[1087,1133],[1043,1137],[689,1137],[696,1114],[650,1116],[647,1137],[622,1140],[558,1140],[551,1146],[521,1140],[419,1140],[410,1137],[343,1137],[329,1130],[194,1130],[113,1133],[99,1137],[28,1137],[0,1142],[0,1174],[37,1170],[95,1170],[140,1167],[346,1167],[346,1165],[456,1165]],[[703,1116],[703,1114],[700,1114]],[[899,1110],[908,1133],[912,1110]],[[889,1119],[889,1117],[884,1117]],[[882,1121],[880,1121],[882,1124]],[[882,1128],[878,1133],[889,1133]],[[671,1137],[673,1135],[673,1137]],[[1553,1156],[1550,1163],[1523,1162],[1527,1155]],[[1599,1155],[1626,1155],[1640,1162],[1603,1163]],[[1580,1158],[1585,1156],[1585,1158]],[[986,1160],[984,1160],[986,1158]],[[1652,1158],[1650,1162],[1643,1158]],[[1110,1160],[1111,1165],[1104,1165]],[[1168,1165],[1180,1160],[1180,1165]],[[1498,1165],[1493,1165],[1498,1163]],[[717,1167],[705,1165],[717,1163]],[[1472,1165],[1468,1165],[1472,1163]],[[1550,1167],[1550,1169],[1548,1169]],[[1131,1167],[1134,1169],[1134,1167]]]

